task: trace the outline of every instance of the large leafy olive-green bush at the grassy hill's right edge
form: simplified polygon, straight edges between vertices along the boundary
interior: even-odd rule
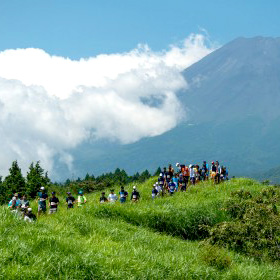
[[[279,190],[275,188],[263,189],[251,199],[233,194],[225,208],[233,221],[208,228],[208,242],[256,259],[280,260],[279,200]]]

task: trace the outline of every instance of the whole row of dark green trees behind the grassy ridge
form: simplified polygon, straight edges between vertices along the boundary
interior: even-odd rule
[[[154,175],[159,173],[160,168],[156,170]],[[85,178],[67,179],[63,183],[52,183],[48,172],[40,166],[40,161],[30,164],[26,177],[22,175],[18,162],[14,161],[5,179],[3,180],[0,176],[0,204],[7,203],[16,192],[20,195],[26,194],[30,199],[34,199],[41,186],[44,186],[47,190],[51,188],[58,194],[65,194],[67,191],[75,193],[79,189],[92,192],[107,187],[124,186],[131,182],[142,183],[150,177],[151,174],[148,170],[130,176],[125,170],[117,168],[115,172],[104,173],[97,177],[87,173]]]

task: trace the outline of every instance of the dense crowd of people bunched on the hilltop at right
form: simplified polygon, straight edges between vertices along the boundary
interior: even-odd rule
[[[171,164],[168,168],[163,168],[157,182],[153,185],[152,198],[160,194],[173,195],[176,191],[184,192],[188,186],[209,180],[209,178],[216,184],[229,179],[227,168],[221,166],[218,161],[212,161],[210,168],[206,161],[203,161],[201,167],[197,164],[176,163],[176,168],[177,170],[174,170]]]

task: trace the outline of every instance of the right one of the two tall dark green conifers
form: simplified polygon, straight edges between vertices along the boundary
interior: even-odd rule
[[[36,197],[41,186],[47,187],[50,183],[48,172],[44,173],[44,169],[40,166],[40,161],[37,161],[35,166],[33,162],[30,164],[26,179],[26,193],[32,198]]]

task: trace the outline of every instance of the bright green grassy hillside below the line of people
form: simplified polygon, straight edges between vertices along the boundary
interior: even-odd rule
[[[261,184],[201,183],[152,201],[153,180],[137,186],[137,204],[100,205],[92,193],[84,208],[61,205],[32,224],[1,208],[0,279],[280,279],[277,263],[200,241],[203,226],[231,219],[223,205],[232,191],[258,194]]]

